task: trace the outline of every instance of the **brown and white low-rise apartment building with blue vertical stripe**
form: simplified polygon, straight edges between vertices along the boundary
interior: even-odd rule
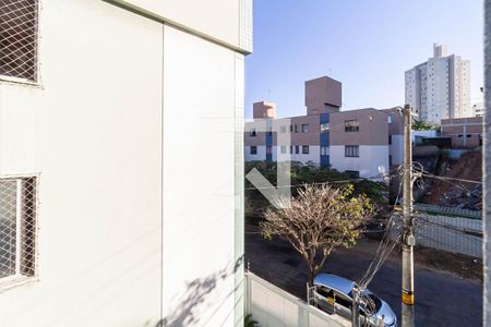
[[[256,102],[246,123],[247,161],[299,161],[371,178],[403,161],[397,109],[340,111],[342,84],[327,76],[306,82],[307,114],[276,119],[276,106]]]

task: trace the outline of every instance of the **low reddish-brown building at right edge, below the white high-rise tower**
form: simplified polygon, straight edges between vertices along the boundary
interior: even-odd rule
[[[441,134],[452,140],[453,148],[481,146],[482,133],[482,117],[442,119]]]

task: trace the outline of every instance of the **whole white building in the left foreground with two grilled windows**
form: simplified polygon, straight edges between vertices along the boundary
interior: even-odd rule
[[[241,326],[251,26],[249,0],[0,1],[1,326]]]

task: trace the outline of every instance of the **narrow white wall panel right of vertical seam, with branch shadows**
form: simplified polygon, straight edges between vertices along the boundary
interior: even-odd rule
[[[232,326],[236,53],[166,26],[164,58],[164,317]]]

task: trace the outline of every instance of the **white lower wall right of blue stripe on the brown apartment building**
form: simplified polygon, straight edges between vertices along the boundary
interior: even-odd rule
[[[388,145],[360,145],[359,157],[345,157],[344,145],[330,146],[332,168],[338,171],[356,170],[361,178],[388,172]]]

